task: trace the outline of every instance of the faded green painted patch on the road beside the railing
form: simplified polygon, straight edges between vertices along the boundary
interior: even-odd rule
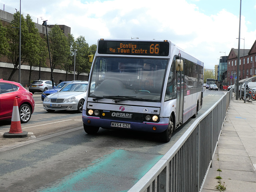
[[[128,191],[163,155],[116,150],[85,169],[40,188],[40,192]]]

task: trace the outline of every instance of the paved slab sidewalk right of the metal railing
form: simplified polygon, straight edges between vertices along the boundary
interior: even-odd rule
[[[218,185],[225,192],[256,192],[256,101],[233,96],[230,102],[202,192],[221,191]]]

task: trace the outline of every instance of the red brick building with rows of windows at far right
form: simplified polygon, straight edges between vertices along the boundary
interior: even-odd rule
[[[238,63],[238,49],[232,48],[228,54],[227,82],[234,84],[236,76],[238,80],[256,76],[256,40],[250,49],[240,49],[240,59]],[[237,64],[239,71],[237,72]],[[244,73],[243,73],[244,72]],[[232,76],[232,78],[230,78]]]

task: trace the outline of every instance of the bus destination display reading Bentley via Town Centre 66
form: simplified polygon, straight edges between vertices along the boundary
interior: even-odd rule
[[[100,40],[98,53],[168,56],[169,42]]]

